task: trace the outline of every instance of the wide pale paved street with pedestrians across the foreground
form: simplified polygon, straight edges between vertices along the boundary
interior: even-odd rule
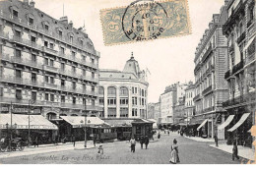
[[[195,142],[174,134],[170,136],[162,135],[159,142],[150,142],[147,150],[141,149],[140,144],[137,143],[135,153],[130,152],[129,142],[109,142],[103,145],[104,154],[102,157],[99,157],[96,148],[63,149],[62,151],[56,151],[55,149],[53,152],[1,158],[0,163],[168,164],[170,144],[174,138],[179,144],[181,164],[241,163],[240,161],[232,161],[229,153],[210,147],[209,142]]]

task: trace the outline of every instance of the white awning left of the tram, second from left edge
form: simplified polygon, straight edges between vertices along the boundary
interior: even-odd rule
[[[87,127],[106,125],[106,123],[98,117],[85,118],[85,116],[60,116],[60,118],[72,125],[73,128],[85,127],[85,121],[87,121]]]

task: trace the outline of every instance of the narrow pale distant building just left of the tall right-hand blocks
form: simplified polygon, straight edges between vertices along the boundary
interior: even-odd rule
[[[185,123],[189,123],[192,116],[195,115],[195,104],[193,98],[195,97],[195,85],[190,82],[185,89]]]

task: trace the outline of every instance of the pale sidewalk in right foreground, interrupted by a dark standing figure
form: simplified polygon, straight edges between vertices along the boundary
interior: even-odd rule
[[[219,144],[219,146],[217,147],[215,144],[210,144],[210,146],[232,154],[232,145]],[[249,147],[244,147],[241,145],[237,145],[237,147],[238,147],[238,156],[249,159],[249,160],[256,160],[254,149]]]

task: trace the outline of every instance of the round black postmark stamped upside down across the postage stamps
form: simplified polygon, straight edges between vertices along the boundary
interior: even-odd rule
[[[122,17],[122,29],[130,40],[157,39],[164,31],[167,13],[160,3],[137,0],[131,3]]]

